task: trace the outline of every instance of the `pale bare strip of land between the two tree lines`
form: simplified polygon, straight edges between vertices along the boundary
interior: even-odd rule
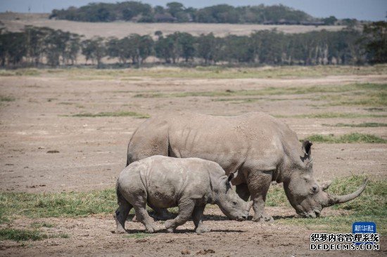
[[[127,37],[136,33],[151,35],[158,30],[163,34],[174,32],[188,32],[195,36],[212,32],[218,37],[228,34],[248,35],[255,30],[277,29],[284,33],[305,33],[326,29],[338,31],[344,26],[303,26],[303,25],[254,25],[254,24],[201,24],[201,23],[135,23],[135,22],[72,22],[68,20],[49,20],[49,14],[0,13],[0,20],[10,31],[19,31],[25,25],[36,27],[51,27],[84,35],[86,38],[100,37]]]

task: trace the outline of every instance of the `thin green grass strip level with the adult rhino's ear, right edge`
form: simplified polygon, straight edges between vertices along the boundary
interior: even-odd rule
[[[387,143],[387,140],[379,138],[379,136],[362,133],[350,133],[341,136],[312,135],[306,139],[315,143]]]

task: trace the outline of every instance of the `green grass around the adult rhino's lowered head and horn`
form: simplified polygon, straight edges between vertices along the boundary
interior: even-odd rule
[[[327,192],[334,195],[345,195],[355,192],[364,176],[349,176],[334,179]],[[360,197],[344,204],[336,204],[329,208],[346,210],[343,214],[324,215],[319,218],[279,218],[276,222],[286,225],[299,225],[303,228],[326,232],[351,232],[355,221],[374,221],[377,231],[387,235],[387,180],[369,180]],[[267,206],[284,206],[291,208],[284,189],[279,185],[269,188]],[[296,214],[296,211],[294,212]]]

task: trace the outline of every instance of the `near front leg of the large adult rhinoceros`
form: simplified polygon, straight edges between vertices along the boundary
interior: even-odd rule
[[[267,190],[272,182],[272,172],[253,171],[248,175],[247,185],[253,200],[254,216],[251,220],[259,222],[272,222],[274,219],[265,213]]]

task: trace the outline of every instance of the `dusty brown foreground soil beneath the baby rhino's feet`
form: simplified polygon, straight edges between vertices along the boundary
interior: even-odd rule
[[[277,219],[294,218],[292,211],[268,208]],[[328,211],[329,214],[341,213]],[[132,218],[132,216],[129,216]],[[310,235],[315,230],[287,225],[238,222],[227,220],[219,209],[205,209],[203,221],[211,232],[196,235],[192,221],[167,233],[158,221],[158,232],[146,235],[141,223],[127,221],[128,234],[113,233],[115,221],[111,217],[78,219],[45,218],[55,228],[47,233],[66,233],[70,238],[51,238],[20,247],[18,243],[0,243],[3,256],[383,256],[387,252],[385,237],[381,251],[310,251]],[[18,220],[13,227],[25,228],[37,220]],[[350,232],[350,230],[345,231]],[[343,232],[344,233],[344,232]]]

